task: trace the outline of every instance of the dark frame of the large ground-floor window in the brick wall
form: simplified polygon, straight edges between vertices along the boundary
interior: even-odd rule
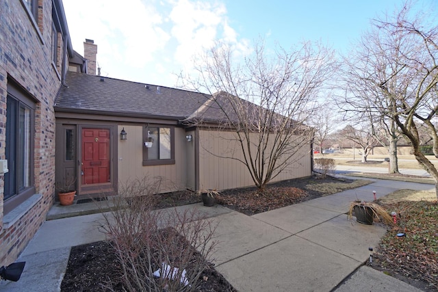
[[[34,171],[35,171],[34,137],[35,137],[36,101],[32,100],[32,98],[29,96],[29,94],[27,94],[27,92],[19,88],[17,85],[12,84],[10,80],[8,80],[7,98],[9,101],[13,99],[14,102],[16,102],[17,106],[15,109],[16,120],[14,120],[14,125],[11,126],[10,121],[8,122],[8,120],[6,120],[6,124],[5,124],[5,129],[6,129],[5,157],[6,159],[8,159],[9,172],[6,173],[4,176],[5,187],[3,189],[3,214],[9,213],[14,208],[16,208],[19,204],[21,204],[22,202],[30,198],[32,195],[34,195],[36,189],[35,176],[34,176]],[[28,140],[27,148],[23,149],[24,151],[27,150],[27,155],[28,155],[27,162],[29,165],[28,165],[28,169],[26,170],[27,177],[25,177],[28,180],[28,186],[20,189],[19,186],[20,179],[18,178],[18,173],[20,173],[22,170],[15,168],[12,163],[16,163],[16,165],[18,165],[18,161],[19,161],[18,156],[21,155],[21,153],[19,152],[19,149],[16,149],[16,151],[11,154],[11,152],[9,152],[7,148],[10,147],[11,144],[10,139],[12,138],[15,139],[14,142],[15,145],[18,145],[18,140],[20,137],[19,135],[16,135],[16,130],[18,129],[20,124],[19,111],[21,108],[29,109],[29,137],[27,137],[29,140]],[[8,108],[6,109],[6,111],[8,111]],[[14,133],[11,133],[12,131],[14,131]],[[14,157],[10,157],[10,155],[13,155]],[[15,179],[12,178],[11,176],[14,176]],[[14,185],[9,187],[13,188],[14,194],[8,196],[8,198],[5,198],[5,191],[7,189],[6,185],[11,183],[14,183]]]

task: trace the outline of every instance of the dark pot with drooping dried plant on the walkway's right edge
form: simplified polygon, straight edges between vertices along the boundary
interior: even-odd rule
[[[376,202],[364,202],[361,200],[351,202],[348,209],[348,219],[352,219],[353,214],[356,217],[356,221],[362,224],[373,224],[374,217],[382,220],[385,224],[394,224],[391,215]]]

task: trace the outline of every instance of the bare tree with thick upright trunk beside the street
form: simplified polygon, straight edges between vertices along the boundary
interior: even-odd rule
[[[344,57],[342,87],[346,94],[339,105],[350,121],[370,124],[370,131],[389,155],[389,172],[398,173],[397,142],[400,131],[394,119],[395,104],[386,91],[400,92],[397,72],[403,64],[394,62],[400,40],[382,33],[374,26],[363,34],[355,51]],[[391,79],[389,81],[389,79]]]

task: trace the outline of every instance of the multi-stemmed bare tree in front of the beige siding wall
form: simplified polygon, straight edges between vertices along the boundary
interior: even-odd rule
[[[200,78],[185,81],[209,101],[190,118],[234,133],[242,157],[213,153],[243,163],[255,185],[263,189],[281,172],[298,168],[309,153],[311,131],[305,122],[333,68],[333,52],[305,42],[298,49],[268,51],[263,42],[237,61],[235,48],[216,44],[198,65]],[[187,84],[186,84],[187,87]]]

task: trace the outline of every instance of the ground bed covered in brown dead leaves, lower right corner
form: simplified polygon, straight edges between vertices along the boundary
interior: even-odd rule
[[[438,202],[403,201],[385,207],[397,213],[398,222],[382,238],[374,263],[388,274],[422,280],[426,289],[438,289]]]

